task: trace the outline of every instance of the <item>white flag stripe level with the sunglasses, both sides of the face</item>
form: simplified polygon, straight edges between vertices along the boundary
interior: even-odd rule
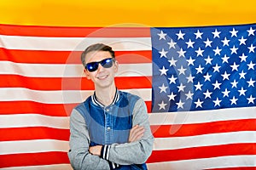
[[[0,61],[0,74],[24,77],[84,77],[83,65],[71,64],[25,64]],[[151,63],[120,64],[117,77],[152,76]]]

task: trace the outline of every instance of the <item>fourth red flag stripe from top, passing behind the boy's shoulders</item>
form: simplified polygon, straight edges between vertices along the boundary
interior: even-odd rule
[[[34,101],[0,102],[0,115],[37,113],[45,116],[69,116],[78,104],[43,104]],[[151,101],[146,101],[148,112],[151,111]]]

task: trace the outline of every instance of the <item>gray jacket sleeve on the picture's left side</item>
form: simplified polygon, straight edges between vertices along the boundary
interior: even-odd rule
[[[74,169],[110,169],[108,161],[93,156],[89,153],[90,137],[84,121],[84,117],[79,111],[73,110],[70,116],[70,150],[68,157]]]

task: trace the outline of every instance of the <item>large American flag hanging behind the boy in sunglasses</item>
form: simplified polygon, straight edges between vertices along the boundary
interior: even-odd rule
[[[148,106],[148,169],[254,169],[255,30],[0,25],[0,168],[72,169],[69,114],[94,88],[79,55],[103,42]]]

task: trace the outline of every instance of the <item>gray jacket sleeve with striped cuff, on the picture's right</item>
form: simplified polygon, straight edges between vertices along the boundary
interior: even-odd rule
[[[139,99],[133,111],[132,126],[145,128],[143,138],[139,141],[125,144],[102,146],[102,158],[119,165],[142,164],[148,160],[153,150],[154,137],[148,122],[147,107],[143,99]]]

